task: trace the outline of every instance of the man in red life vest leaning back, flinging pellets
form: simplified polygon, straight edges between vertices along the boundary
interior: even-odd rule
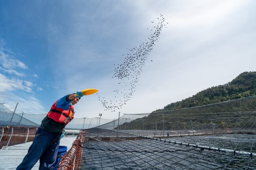
[[[28,149],[28,154],[16,170],[31,170],[39,159],[39,170],[54,169],[61,134],[67,123],[74,118],[73,105],[82,96],[82,92],[77,91],[54,102],[51,110],[35,133],[35,138]]]

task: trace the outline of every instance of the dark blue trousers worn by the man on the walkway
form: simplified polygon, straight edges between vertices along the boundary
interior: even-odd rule
[[[40,159],[39,170],[53,170],[56,161],[60,137],[52,144],[59,133],[48,132],[38,128],[35,139],[28,149],[28,154],[16,170],[31,170]]]

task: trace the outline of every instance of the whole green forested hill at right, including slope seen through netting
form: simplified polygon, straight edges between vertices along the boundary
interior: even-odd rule
[[[244,72],[227,84],[200,91],[192,97],[168,104],[163,109],[158,109],[150,113],[147,117],[139,118],[129,123],[127,122],[125,125],[119,125],[116,129],[150,130],[157,129],[157,127],[161,129],[163,121],[178,122],[180,120],[184,121],[184,118],[187,119],[188,117],[192,120],[198,116],[205,117],[205,113],[231,114],[236,112],[251,112],[256,110],[255,96],[256,72]],[[214,122],[219,123],[218,120],[214,119],[206,119],[203,123]],[[152,126],[154,127],[152,128]]]

